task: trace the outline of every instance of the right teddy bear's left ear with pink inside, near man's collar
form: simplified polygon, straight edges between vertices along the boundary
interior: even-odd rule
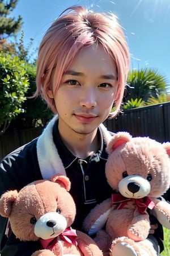
[[[117,147],[131,140],[131,135],[126,131],[120,131],[113,135],[111,141],[108,143],[107,152],[111,154]]]

